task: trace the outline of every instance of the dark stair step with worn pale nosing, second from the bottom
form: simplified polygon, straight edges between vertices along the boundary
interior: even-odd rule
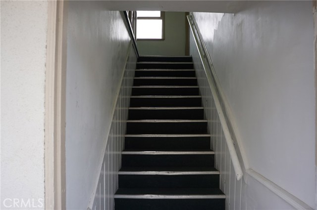
[[[213,188],[219,171],[213,167],[122,167],[119,188]]]

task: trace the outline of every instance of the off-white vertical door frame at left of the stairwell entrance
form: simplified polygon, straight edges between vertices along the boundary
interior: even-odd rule
[[[65,92],[67,2],[48,1],[45,81],[45,209],[66,209]]]

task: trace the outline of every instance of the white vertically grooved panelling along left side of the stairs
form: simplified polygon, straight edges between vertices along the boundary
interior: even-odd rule
[[[132,47],[128,56],[111,122],[96,194],[90,207],[92,210],[114,210],[113,195],[119,187],[118,171],[121,168],[121,151],[124,148],[124,134],[137,62],[137,57]]]

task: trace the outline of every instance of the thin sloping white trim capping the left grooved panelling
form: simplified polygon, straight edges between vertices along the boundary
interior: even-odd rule
[[[114,98],[114,101],[113,101],[113,104],[112,104],[112,110],[111,110],[111,114],[110,114],[111,121],[113,119],[115,107],[116,107],[117,100],[118,100],[118,97],[119,97],[119,94],[120,94],[121,84],[122,84],[122,81],[123,81],[123,78],[124,78],[124,73],[125,73],[125,70],[126,70],[128,59],[130,57],[130,53],[131,53],[131,49],[132,49],[132,43],[133,42],[131,40],[130,43],[129,43],[128,50],[127,50],[127,55],[125,57],[123,71],[122,71],[122,74],[121,74],[121,77],[120,77],[120,81],[119,81],[119,84],[118,84],[118,87],[117,87],[115,98]],[[88,204],[87,210],[92,210],[93,206],[94,206],[94,199],[95,199],[96,191],[98,189],[99,176],[100,176],[100,173],[101,173],[101,170],[102,170],[102,167],[103,167],[103,162],[104,162],[104,157],[105,157],[105,153],[106,153],[106,146],[107,146],[108,136],[109,136],[109,133],[110,133],[110,128],[111,128],[111,124],[106,128],[107,130],[106,130],[106,136],[105,136],[104,145],[103,145],[103,152],[102,152],[101,157],[99,158],[99,170],[98,170],[98,173],[97,173],[97,175],[95,177],[96,178],[95,179],[95,185],[94,185],[94,188],[93,188],[93,191],[92,191],[92,195],[91,195],[90,200],[89,200],[89,204]]]

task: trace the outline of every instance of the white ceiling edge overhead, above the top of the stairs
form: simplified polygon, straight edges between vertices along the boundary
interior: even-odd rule
[[[106,0],[109,10],[159,10],[236,13],[246,4],[240,0]]]

